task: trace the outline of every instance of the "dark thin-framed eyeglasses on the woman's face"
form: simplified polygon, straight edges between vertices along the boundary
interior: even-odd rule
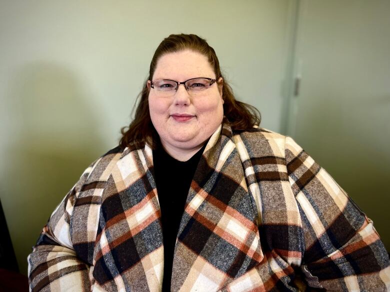
[[[183,84],[190,95],[200,95],[204,94],[203,91],[207,90],[214,83],[215,79],[206,77],[191,78],[184,82],[161,79],[151,81],[150,87],[153,88],[155,93],[159,96],[172,96],[176,93],[179,85]]]

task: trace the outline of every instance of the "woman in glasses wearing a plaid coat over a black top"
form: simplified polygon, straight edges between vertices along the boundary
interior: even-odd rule
[[[120,146],[44,227],[31,290],[388,290],[372,222],[291,138],[258,123],[205,40],[165,38]]]

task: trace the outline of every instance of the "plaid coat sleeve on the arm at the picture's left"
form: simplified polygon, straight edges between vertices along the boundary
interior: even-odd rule
[[[89,265],[81,261],[74,251],[70,220],[80,190],[93,165],[84,171],[80,180],[51,214],[28,256],[30,291],[90,291]]]

